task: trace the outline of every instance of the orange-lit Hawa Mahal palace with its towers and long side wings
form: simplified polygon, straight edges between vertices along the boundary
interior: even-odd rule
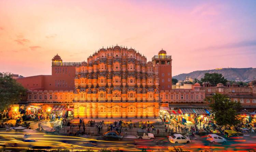
[[[165,50],[147,61],[127,47],[101,48],[83,62],[52,59],[52,75],[17,78],[28,89],[22,102],[33,110],[70,110],[74,118],[158,118],[160,110],[207,108],[204,100],[223,93],[256,108],[256,83],[216,87],[172,85],[172,58]],[[30,109],[30,108],[29,108]]]

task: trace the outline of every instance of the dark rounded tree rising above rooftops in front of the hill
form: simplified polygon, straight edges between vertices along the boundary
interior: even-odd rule
[[[227,79],[225,79],[221,73],[205,73],[204,77],[201,78],[201,81],[210,82],[212,85],[216,86],[218,83],[226,85]]]

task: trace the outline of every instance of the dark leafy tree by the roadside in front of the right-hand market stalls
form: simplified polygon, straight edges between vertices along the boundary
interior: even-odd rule
[[[214,120],[218,125],[237,125],[240,123],[239,111],[242,108],[240,102],[233,102],[226,95],[217,93],[212,98],[206,98],[210,101],[210,107],[215,114]]]

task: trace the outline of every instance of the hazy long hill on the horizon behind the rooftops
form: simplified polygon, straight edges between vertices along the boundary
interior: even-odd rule
[[[172,78],[178,80],[185,80],[186,76],[193,79],[201,79],[204,76],[204,73],[221,73],[227,80],[235,81],[252,81],[256,79],[256,68],[218,68],[214,70],[203,70],[203,71],[194,71],[190,73],[183,73]]]

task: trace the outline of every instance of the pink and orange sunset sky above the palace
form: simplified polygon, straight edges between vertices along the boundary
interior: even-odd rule
[[[256,67],[256,1],[0,0],[0,72],[51,74],[51,59],[81,62],[107,46],[150,61],[164,49],[172,75]]]

